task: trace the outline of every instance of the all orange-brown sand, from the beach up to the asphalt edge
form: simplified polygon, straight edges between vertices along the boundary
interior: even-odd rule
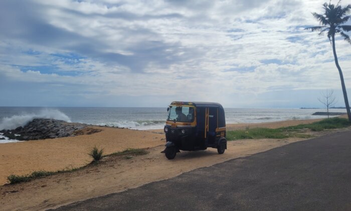
[[[228,128],[278,128],[311,121],[317,120],[233,124],[228,125]],[[303,140],[289,138],[232,141],[228,142],[228,149],[223,155],[219,155],[216,149],[208,149],[178,153],[174,160],[167,160],[164,154],[160,153],[165,143],[164,135],[160,132],[162,130],[96,128],[102,129],[102,132],[76,137],[1,144],[0,182],[4,184],[6,177],[10,174],[23,175],[37,170],[56,171],[86,165],[91,162],[87,153],[95,145],[104,148],[106,154],[127,148],[146,148],[149,154],[131,159],[125,159],[123,156],[107,157],[100,165],[83,170],[31,182],[0,186],[0,209],[57,207],[77,200],[124,191],[152,181],[171,178],[196,168]]]

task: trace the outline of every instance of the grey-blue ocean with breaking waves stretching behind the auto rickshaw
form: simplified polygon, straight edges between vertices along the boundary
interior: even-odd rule
[[[236,109],[225,108],[226,123],[263,123],[284,120],[325,118],[312,116],[325,109]],[[332,109],[330,112],[346,112]],[[136,130],[162,129],[167,118],[166,108],[88,108],[88,107],[0,107],[0,130],[16,129],[35,118],[98,126],[115,126]],[[0,134],[0,138],[2,138]],[[15,140],[13,140],[15,141]],[[12,142],[0,140],[0,143]]]

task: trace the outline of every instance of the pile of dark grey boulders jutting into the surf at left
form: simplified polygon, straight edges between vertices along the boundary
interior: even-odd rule
[[[92,134],[101,130],[89,128],[89,125],[67,123],[62,120],[34,119],[24,127],[15,130],[3,130],[4,136],[20,141],[53,139],[68,136]]]

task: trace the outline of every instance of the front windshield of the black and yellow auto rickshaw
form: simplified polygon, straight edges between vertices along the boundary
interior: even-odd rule
[[[174,122],[194,122],[194,108],[192,107],[169,107],[168,121]]]

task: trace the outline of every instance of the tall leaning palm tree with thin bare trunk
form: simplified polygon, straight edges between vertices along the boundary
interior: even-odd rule
[[[350,112],[350,107],[348,105],[345,83],[343,82],[342,71],[337,61],[336,50],[335,50],[335,34],[340,34],[341,37],[343,37],[346,42],[351,44],[350,37],[344,33],[344,31],[346,32],[351,31],[351,26],[342,25],[351,19],[351,16],[346,16],[348,12],[350,12],[351,10],[351,5],[347,5],[346,7],[342,8],[339,5],[339,3],[340,1],[337,3],[336,6],[332,5],[331,3],[329,4],[324,3],[323,4],[324,14],[312,13],[314,18],[317,19],[317,21],[319,21],[319,24],[321,26],[307,27],[305,28],[305,30],[311,30],[312,32],[317,31],[319,32],[319,35],[323,35],[324,32],[327,32],[327,37],[331,42],[331,46],[333,48],[335,65],[340,75],[342,93],[343,93],[343,98],[345,100],[345,107],[347,111],[348,121],[351,122],[351,112]]]

